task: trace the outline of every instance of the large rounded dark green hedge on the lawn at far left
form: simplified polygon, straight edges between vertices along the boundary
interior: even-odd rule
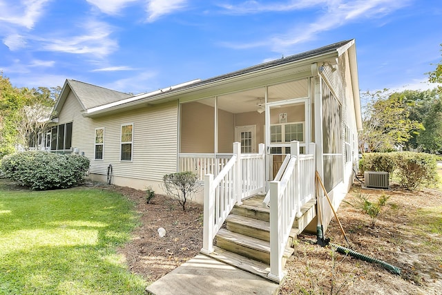
[[[89,169],[82,155],[23,151],[1,160],[6,177],[33,190],[66,189],[81,184]]]

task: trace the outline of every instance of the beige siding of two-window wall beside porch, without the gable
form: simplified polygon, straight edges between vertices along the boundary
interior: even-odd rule
[[[103,160],[90,162],[90,173],[106,175],[108,164],[112,164],[115,177],[162,181],[164,174],[176,172],[177,117],[177,102],[169,102],[91,119],[92,137],[95,128],[106,130],[106,153]],[[125,122],[133,124],[132,161],[120,160],[122,123],[129,124]],[[93,159],[91,143],[86,155]]]

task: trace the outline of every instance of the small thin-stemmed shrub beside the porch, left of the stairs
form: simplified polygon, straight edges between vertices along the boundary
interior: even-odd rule
[[[166,193],[177,198],[183,211],[186,211],[187,200],[191,200],[201,188],[197,176],[191,171],[166,174],[163,182]]]

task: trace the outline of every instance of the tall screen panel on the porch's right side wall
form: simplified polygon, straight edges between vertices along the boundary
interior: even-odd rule
[[[343,181],[342,106],[323,83],[324,186],[332,191]]]

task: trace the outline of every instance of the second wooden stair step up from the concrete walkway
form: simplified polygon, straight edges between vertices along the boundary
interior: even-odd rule
[[[235,254],[270,264],[270,242],[265,240],[220,229],[216,235],[216,245]],[[293,248],[285,249],[282,265],[285,265],[285,261],[293,253]]]

